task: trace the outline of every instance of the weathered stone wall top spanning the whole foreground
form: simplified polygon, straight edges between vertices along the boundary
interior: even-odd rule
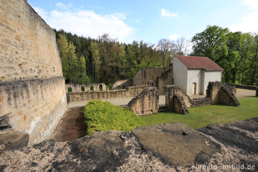
[[[2,144],[0,171],[257,171],[257,127],[258,118],[195,130],[175,122],[17,150]]]

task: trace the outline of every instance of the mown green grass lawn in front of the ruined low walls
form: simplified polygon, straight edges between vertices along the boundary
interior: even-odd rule
[[[189,115],[175,112],[157,113],[140,118],[146,125],[182,122],[191,128],[206,127],[210,124],[225,124],[230,121],[258,117],[258,97],[238,99],[240,106],[211,105],[189,108]]]

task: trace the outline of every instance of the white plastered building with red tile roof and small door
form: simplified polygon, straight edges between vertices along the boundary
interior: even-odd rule
[[[187,95],[205,95],[209,82],[222,81],[223,69],[208,57],[174,56],[173,84]]]

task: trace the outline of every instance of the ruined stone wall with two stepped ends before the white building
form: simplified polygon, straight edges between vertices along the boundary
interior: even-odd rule
[[[214,104],[225,104],[239,106],[236,99],[236,88],[225,85],[222,82],[210,82],[206,90],[205,98],[190,97],[177,85],[164,85],[166,106],[169,110],[188,114],[188,109],[197,106],[207,106]]]

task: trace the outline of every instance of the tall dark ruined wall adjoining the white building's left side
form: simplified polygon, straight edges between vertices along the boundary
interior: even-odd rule
[[[156,87],[159,94],[164,94],[163,85],[173,84],[172,64],[169,67],[140,69],[133,77],[133,85]]]

